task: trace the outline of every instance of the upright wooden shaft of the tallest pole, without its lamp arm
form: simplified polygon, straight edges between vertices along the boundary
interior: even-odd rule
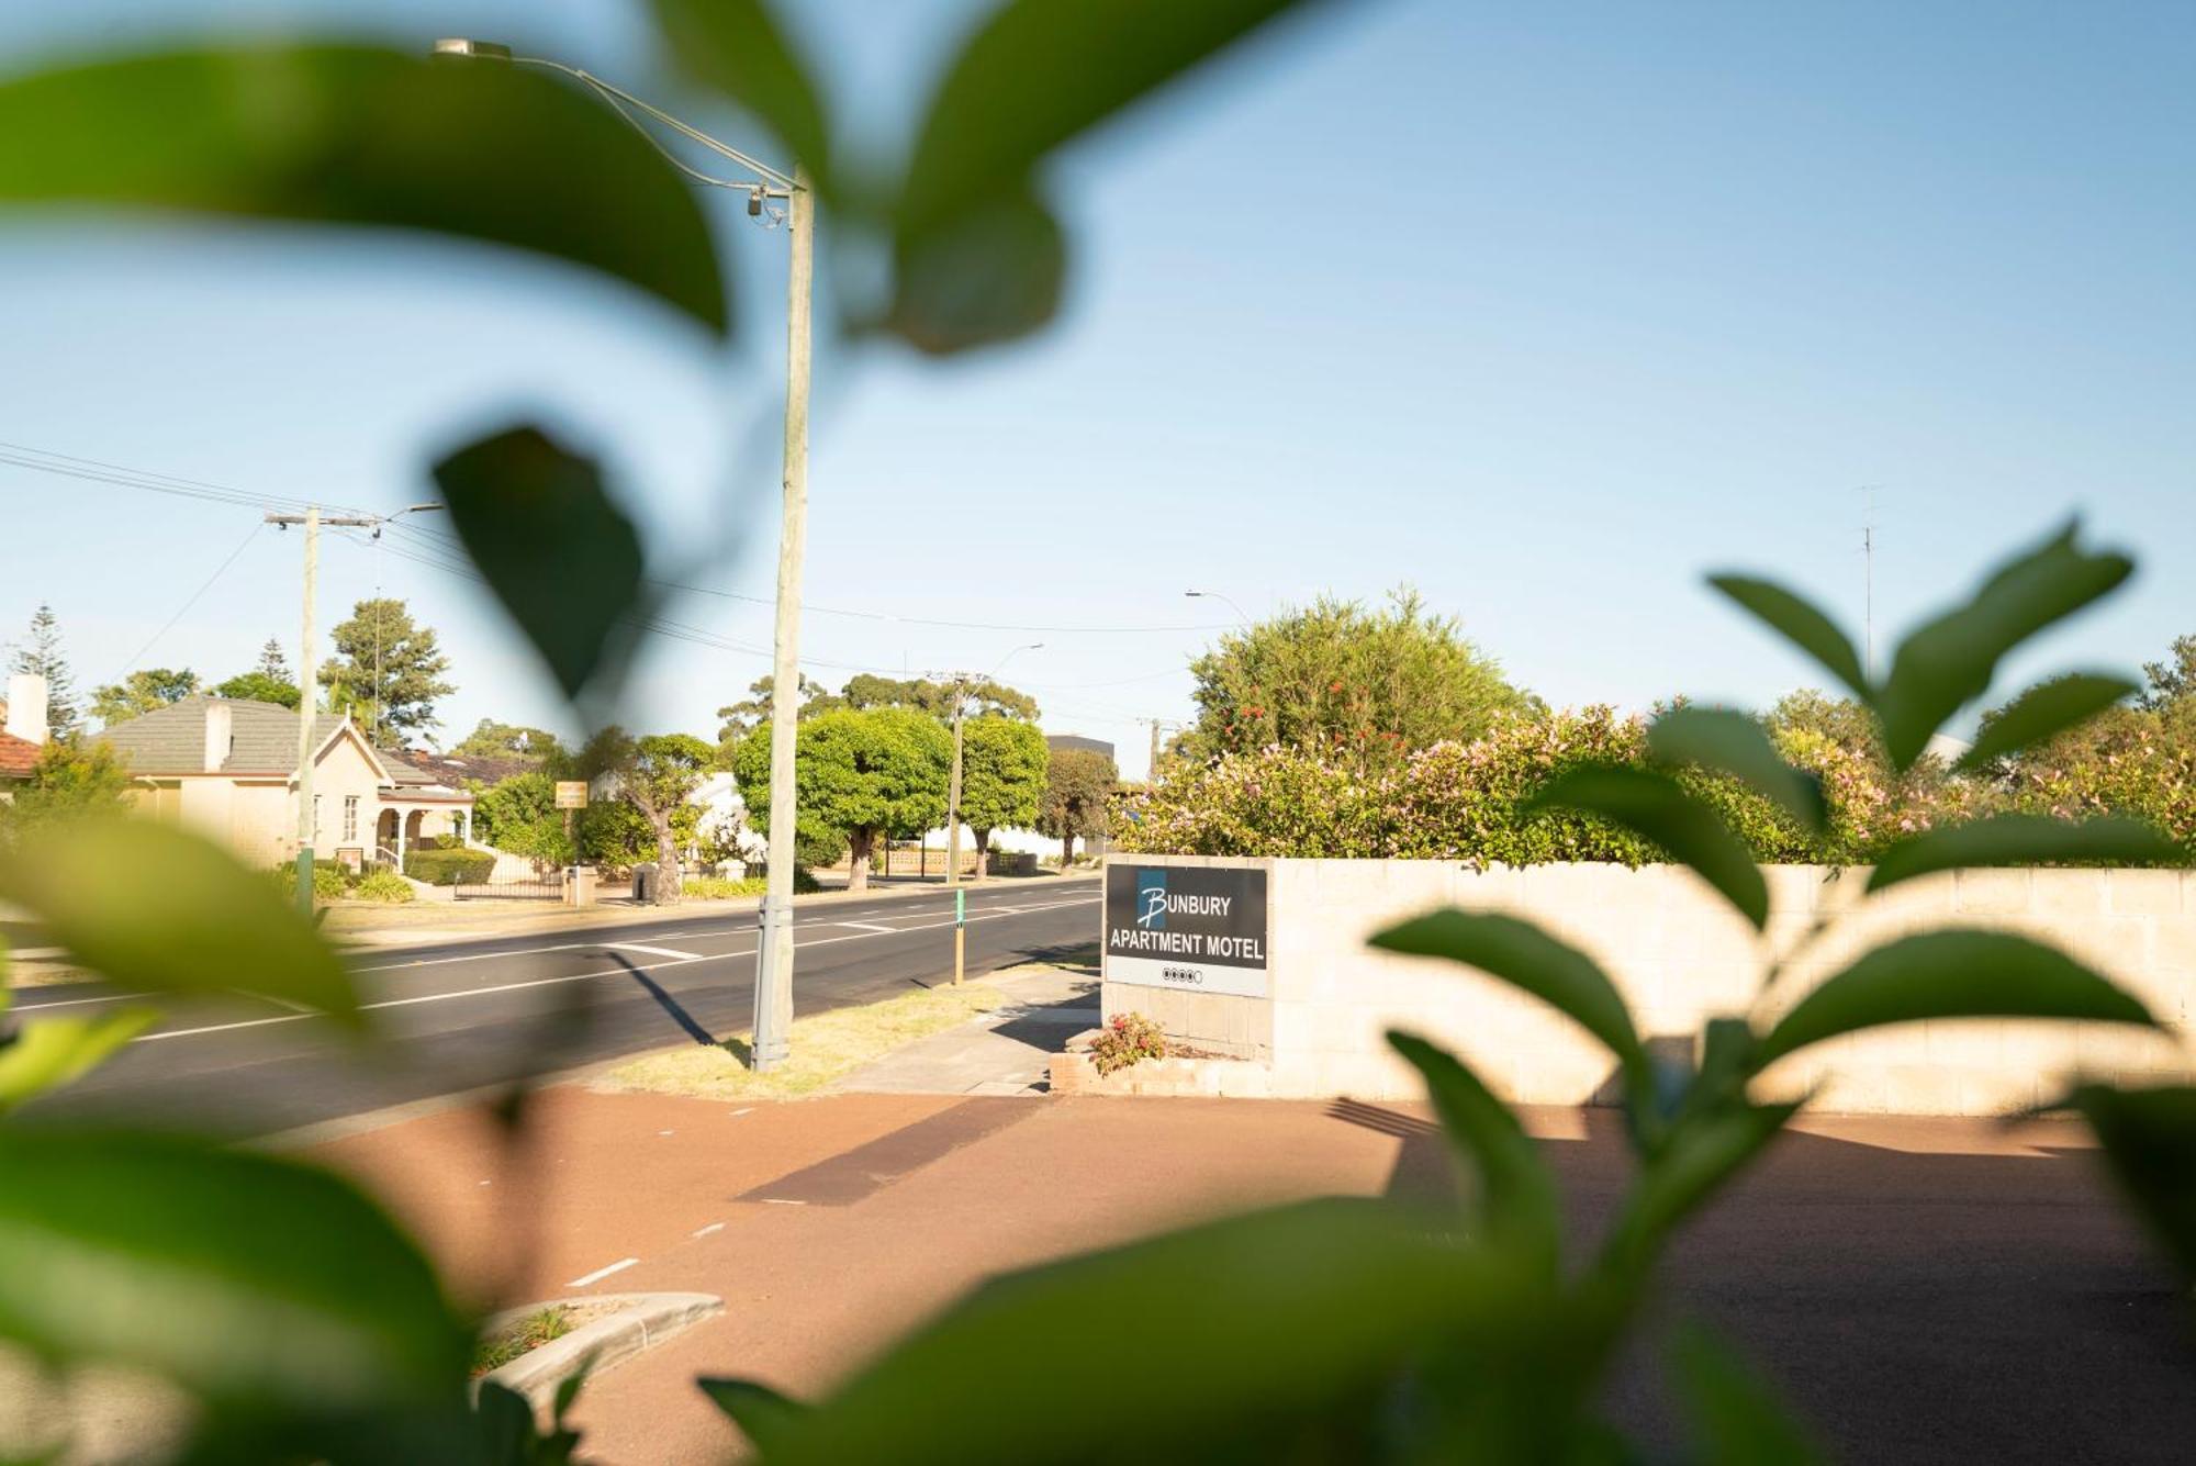
[[[786,483],[777,535],[777,630],[771,661],[771,865],[755,955],[755,1073],[786,1058],[793,1025],[793,740],[802,698],[802,555],[808,546],[808,296],[815,274],[815,193],[793,169],[786,198]]]

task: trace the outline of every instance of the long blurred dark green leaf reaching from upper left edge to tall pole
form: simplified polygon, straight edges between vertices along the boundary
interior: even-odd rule
[[[725,283],[679,173],[595,97],[498,61],[362,46],[141,55],[0,83],[0,202],[121,204],[505,244],[714,331]]]

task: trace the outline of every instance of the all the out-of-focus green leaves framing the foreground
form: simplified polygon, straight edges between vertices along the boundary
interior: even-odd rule
[[[872,235],[878,248],[848,257],[870,274],[889,266],[889,281],[881,292],[850,281],[852,325],[944,353],[1023,336],[1056,309],[1067,272],[1065,230],[1045,198],[1056,149],[1309,7],[1001,0],[953,50],[911,127],[907,171],[883,176],[883,187],[867,182],[881,173],[841,158],[819,88],[758,0],[654,9],[679,37],[681,66],[793,140],[848,233]],[[0,81],[0,136],[40,138],[0,149],[0,200],[11,204],[433,230],[621,279],[714,334],[731,325],[716,241],[681,178],[591,97],[520,68],[437,66],[365,46],[182,48]],[[474,448],[444,459],[441,483],[468,555],[567,693],[602,696],[646,612],[630,520],[602,474],[549,435],[518,428]],[[516,527],[496,507],[525,503],[529,489],[553,511]],[[527,584],[536,557],[569,577],[553,597]],[[1882,683],[1851,639],[1790,590],[1735,575],[1715,584],[1853,693],[1882,766],[1908,779],[1930,733],[1990,687],[2007,654],[2128,568],[2071,531],[2058,535],[1908,636]],[[571,586],[591,595],[571,597]],[[57,726],[64,691],[55,678]],[[433,693],[380,700],[424,718]],[[2082,702],[2018,700],[1994,757],[2029,757],[2073,726]],[[867,777],[859,759],[848,764]],[[1614,830],[1643,841],[1759,922],[1757,887],[1730,858],[1748,834],[1717,838],[1715,797],[1689,783],[1711,770],[1777,819],[1810,819],[1792,779],[1728,726],[1680,726],[1621,779],[1550,777],[1533,794],[1557,832],[1575,819],[1594,823],[1596,838]],[[914,803],[892,812],[889,790],[856,792],[887,812],[839,827],[905,830],[920,814]],[[1831,827],[1836,808],[1831,792]],[[2097,845],[2121,834],[2102,832]],[[1959,843],[1900,832],[1882,858],[1911,869],[2031,860],[2062,838],[2029,823]],[[369,1036],[371,1012],[314,926],[268,880],[180,830],[33,823],[0,847],[0,900],[152,1001],[246,983],[325,1016],[336,1034]],[[1566,1253],[1555,1181],[1498,1097],[1454,1056],[1399,1034],[1465,1181],[1452,1207],[1311,1203],[1004,1277],[815,1407],[744,1380],[698,1387],[766,1462],[1118,1459],[1118,1433],[1063,1424],[1109,1400],[1133,1411],[1127,1451],[1146,1462],[1632,1459],[1596,1418],[1601,1378],[1671,1231],[1796,1110],[1750,1093],[1772,1060],[1873,1025],[1979,1012],[2152,1023],[2064,955],[2003,933],[1922,933],[1862,955],[1805,996],[1766,979],[1752,1012],[1717,1018],[1689,1062],[1671,1062],[1647,1051],[1586,955],[1495,922],[1430,913],[1381,941],[1471,963],[1575,1016],[1610,1049],[1627,1075],[1638,1172],[1592,1251]],[[90,1071],[147,1020],[147,1010],[123,1010],[0,1031],[0,1110]],[[2196,1266],[2196,1091],[2082,1086],[2069,1104],[2095,1126],[2145,1222]],[[498,1113],[523,1117],[516,1106]],[[560,1389],[547,1431],[509,1391],[488,1387],[470,1402],[477,1321],[417,1244],[338,1176],[171,1132],[15,1124],[0,1124],[0,1339],[64,1369],[123,1363],[171,1378],[200,1405],[187,1459],[430,1466],[573,1455],[562,1420],[578,1383]],[[1149,1297],[1168,1301],[1159,1328],[1149,1308],[1122,1306]],[[1728,1350],[1693,1337],[1673,1363],[1702,1459],[1805,1459],[1772,1391]]]

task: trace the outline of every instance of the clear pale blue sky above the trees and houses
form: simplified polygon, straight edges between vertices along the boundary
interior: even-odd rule
[[[626,4],[44,9],[0,15],[0,66],[209,26],[507,35],[771,149],[665,81]],[[797,29],[889,154],[971,13],[817,2]],[[1063,160],[1078,266],[1050,334],[949,366],[826,353],[808,601],[856,614],[808,617],[813,674],[1043,641],[1010,680],[1138,773],[1133,720],[1188,715],[1212,632],[1135,628],[1232,619],[1184,588],[1261,614],[1410,582],[1553,702],[1766,702],[1818,678],[1700,575],[1768,571],[1858,625],[1860,485],[1880,628],[2082,511],[2143,573],[2007,687],[2132,669],[2196,630],[2192,68],[2185,2],[1331,7]],[[733,353],[488,250],[9,217],[0,441],[395,507],[439,448],[545,415],[665,571],[766,597],[784,250],[720,224]],[[0,634],[53,601],[86,685],[239,542],[138,665],[224,676],[296,639],[296,538],[250,511],[7,465],[0,509]],[[323,625],[376,586],[444,636],[446,735],[558,720],[441,568],[332,542]],[[749,601],[668,614],[771,634]],[[654,639],[626,720],[714,733],[762,672]]]

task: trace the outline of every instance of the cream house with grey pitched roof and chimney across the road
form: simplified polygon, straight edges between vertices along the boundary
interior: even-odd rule
[[[246,865],[296,858],[296,711],[246,698],[184,698],[99,735],[130,759],[138,805],[228,845]],[[314,854],[404,860],[419,838],[468,841],[472,794],[373,748],[343,713],[312,720]]]

